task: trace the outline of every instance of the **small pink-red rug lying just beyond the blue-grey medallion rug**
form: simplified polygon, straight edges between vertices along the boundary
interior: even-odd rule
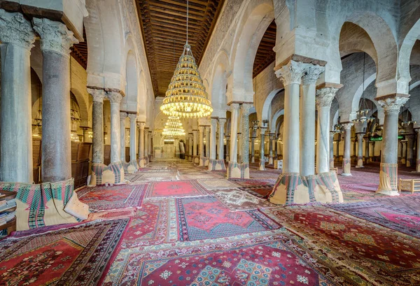
[[[168,182],[152,182],[148,185],[147,198],[202,196],[206,190],[195,180],[177,180]]]

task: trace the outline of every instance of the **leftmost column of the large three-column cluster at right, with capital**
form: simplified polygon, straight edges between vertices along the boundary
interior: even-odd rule
[[[299,101],[304,66],[290,61],[276,71],[284,86],[283,173],[299,173]]]

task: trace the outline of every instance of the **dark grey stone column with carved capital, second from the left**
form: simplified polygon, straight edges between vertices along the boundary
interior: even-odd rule
[[[43,55],[41,177],[58,182],[71,178],[70,47],[78,41],[60,22],[32,21]]]

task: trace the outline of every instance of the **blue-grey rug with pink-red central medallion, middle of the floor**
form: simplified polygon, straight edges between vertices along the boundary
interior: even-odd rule
[[[278,229],[258,210],[232,212],[214,196],[176,199],[179,241],[235,236]]]

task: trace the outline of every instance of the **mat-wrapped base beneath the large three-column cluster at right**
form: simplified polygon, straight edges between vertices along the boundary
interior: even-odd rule
[[[310,176],[284,173],[277,179],[268,200],[281,205],[342,203],[343,195],[335,172]]]

